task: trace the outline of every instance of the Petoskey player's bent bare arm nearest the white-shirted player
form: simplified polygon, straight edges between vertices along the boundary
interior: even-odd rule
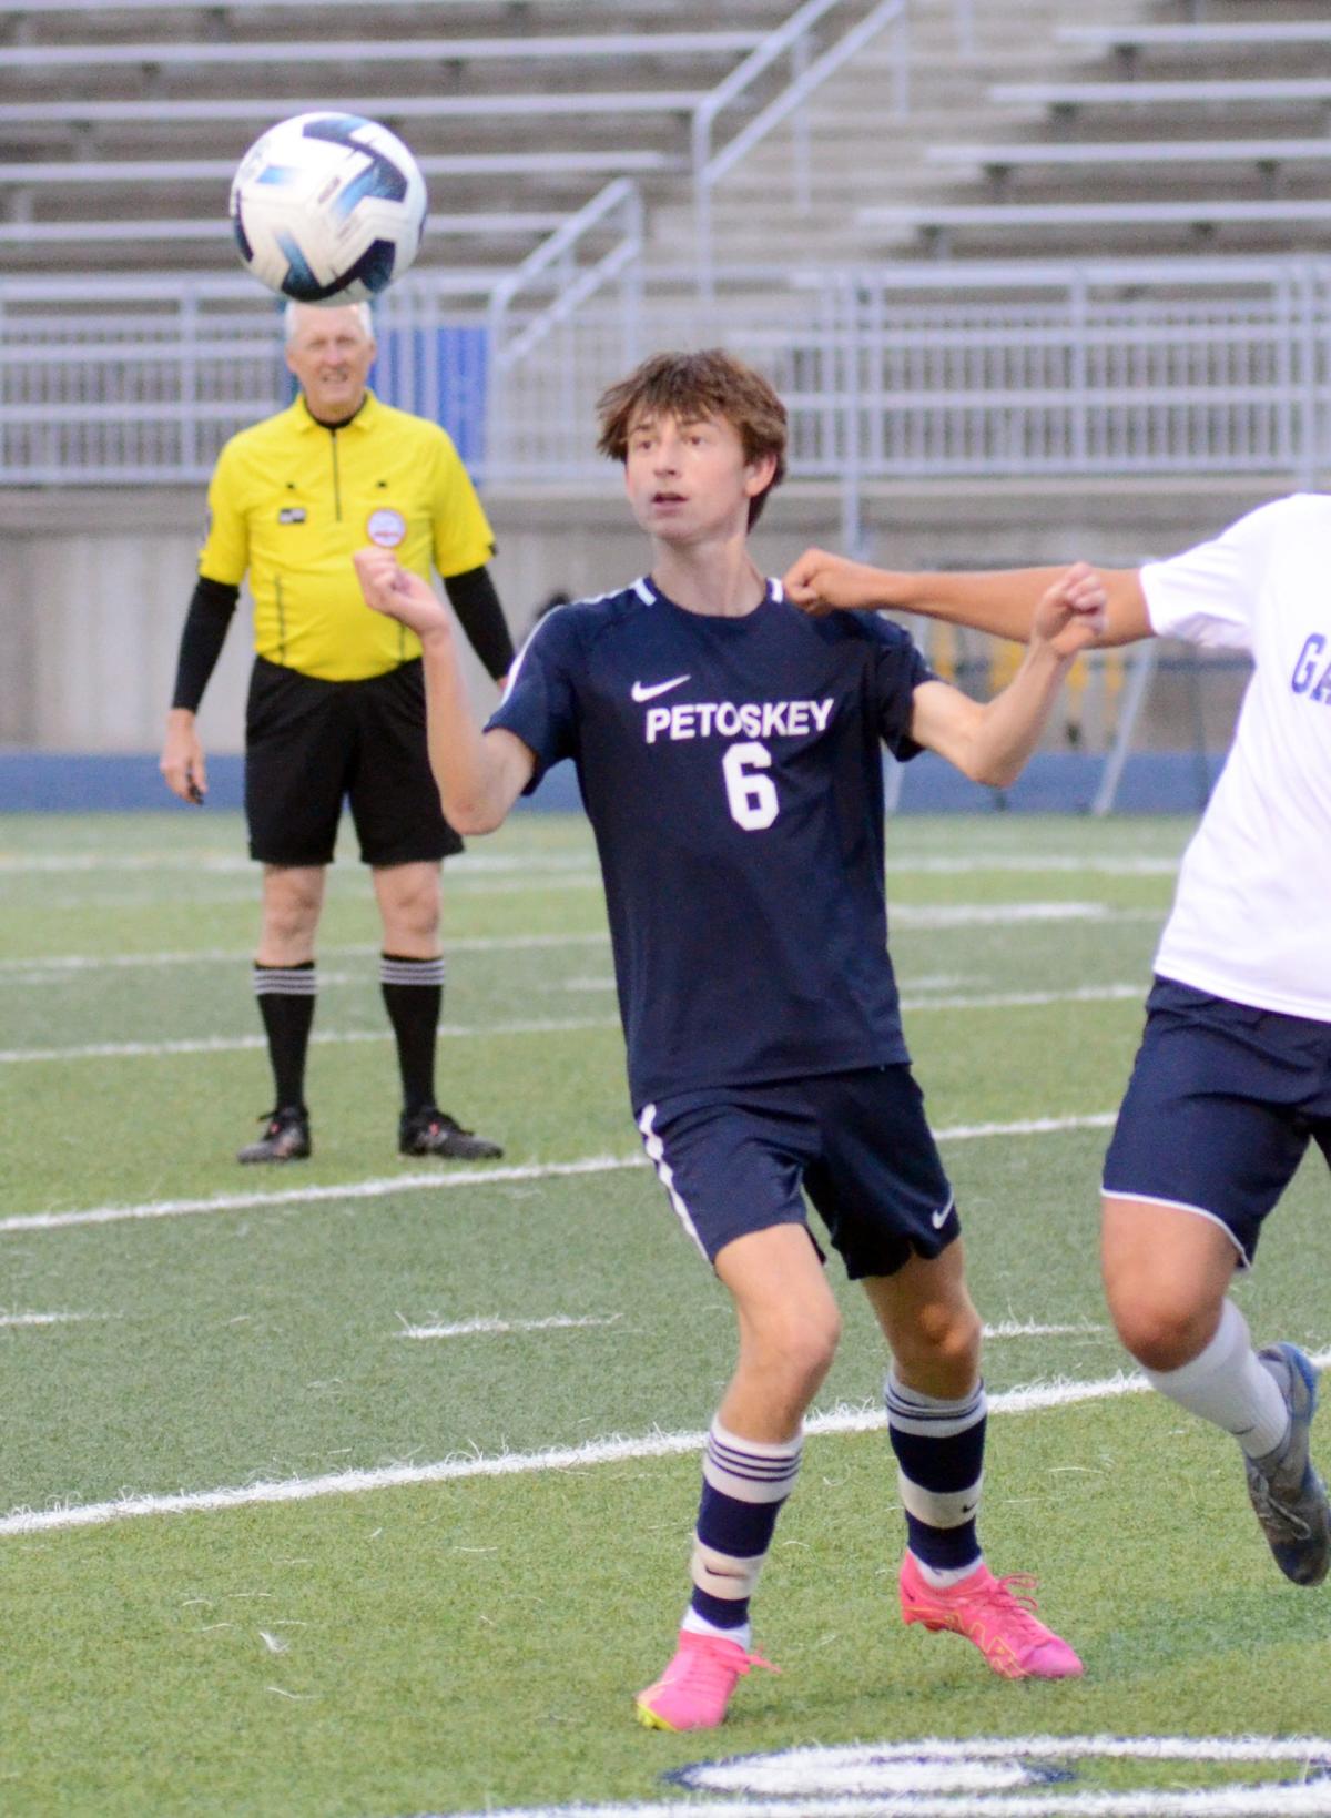
[[[947,682],[922,682],[911,736],[976,784],[1015,784],[1075,658],[1104,636],[1106,611],[1102,576],[1078,562],[1040,594],[1026,656],[1007,687],[980,704]]]

